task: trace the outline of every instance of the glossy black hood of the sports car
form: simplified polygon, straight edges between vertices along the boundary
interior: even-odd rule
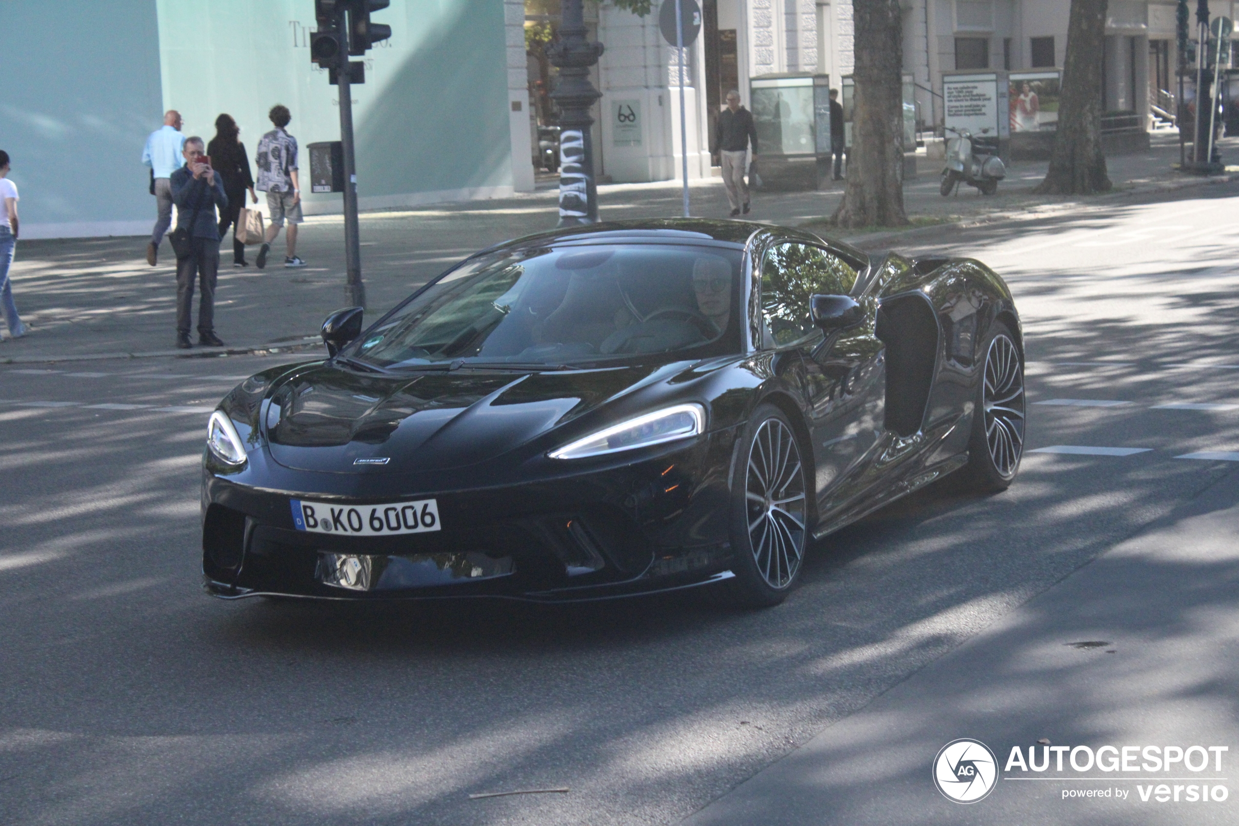
[[[670,367],[463,369],[390,376],[317,364],[286,375],[271,389],[266,440],[278,463],[304,471],[418,473],[465,467],[658,380]]]

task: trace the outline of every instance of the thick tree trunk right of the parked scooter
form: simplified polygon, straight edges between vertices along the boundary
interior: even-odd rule
[[[1101,151],[1101,84],[1106,0],[1072,0],[1063,93],[1049,172],[1033,192],[1093,194],[1110,188]]]

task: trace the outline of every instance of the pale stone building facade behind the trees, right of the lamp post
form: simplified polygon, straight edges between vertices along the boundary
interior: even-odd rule
[[[535,1],[546,0],[528,0]],[[828,76],[831,87],[844,85],[855,62],[852,1],[699,0],[701,37],[689,50],[684,78],[690,102],[690,177],[709,173],[709,133],[729,89],[738,89],[751,108],[751,82],[761,76],[815,73]],[[1194,0],[1188,5],[1189,40],[1194,41]],[[1235,5],[1233,0],[1209,0],[1214,17],[1233,20]],[[1035,124],[1053,129],[1053,84],[1044,76],[1062,69],[1070,0],[901,0],[901,6],[903,71],[912,79],[918,130],[940,134],[943,73],[965,69],[1016,73],[1014,99],[1021,90],[1021,74],[1041,76],[1051,93],[1042,95],[1040,121],[1028,115],[1016,124],[1012,111],[1012,123],[1014,128]],[[607,46],[598,73],[603,93],[597,113],[601,173],[615,181],[678,177],[679,116],[665,103],[676,98],[679,80],[675,50],[658,35],[658,4],[646,19],[618,10],[608,0],[587,0],[586,7],[593,9],[597,37]],[[1176,113],[1180,94],[1176,0],[1110,0],[1105,48],[1099,57],[1104,64],[1103,107],[1114,123],[1129,130],[1149,130],[1157,120],[1168,123],[1161,115]],[[1224,63],[1232,63],[1230,56]],[[1191,82],[1187,85],[1189,99]],[[644,129],[639,145],[613,140],[621,100],[639,100]]]

